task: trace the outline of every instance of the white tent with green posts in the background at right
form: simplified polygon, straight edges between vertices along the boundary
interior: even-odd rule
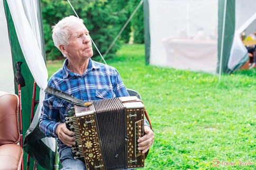
[[[214,74],[248,60],[240,34],[256,19],[254,0],[144,2],[148,64]]]

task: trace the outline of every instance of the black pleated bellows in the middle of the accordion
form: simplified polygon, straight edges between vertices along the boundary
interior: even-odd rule
[[[124,142],[126,136],[125,111],[118,98],[102,99],[94,101],[96,110],[96,123],[99,130],[100,143],[106,169],[124,169],[125,151],[115,158],[118,148]]]

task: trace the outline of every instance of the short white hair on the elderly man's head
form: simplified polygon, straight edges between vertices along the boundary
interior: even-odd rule
[[[69,33],[67,28],[78,24],[84,25],[83,19],[71,15],[61,19],[57,24],[52,26],[53,43],[59,50],[59,45],[68,45]],[[66,57],[65,54],[63,55]]]

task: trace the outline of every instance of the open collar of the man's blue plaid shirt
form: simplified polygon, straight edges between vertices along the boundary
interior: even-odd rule
[[[65,59],[64,64],[63,64],[63,78],[64,79],[68,78],[69,75],[70,76],[81,76],[79,74],[70,72],[67,65],[68,65],[68,58]],[[83,74],[83,76],[86,75],[87,72],[92,71],[92,69],[97,69],[97,68],[99,68],[99,65],[96,62],[92,61],[91,58],[89,58],[89,64],[88,64],[88,67],[87,67],[85,73]]]

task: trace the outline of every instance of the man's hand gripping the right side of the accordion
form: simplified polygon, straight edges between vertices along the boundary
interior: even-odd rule
[[[138,150],[142,151],[142,154],[146,153],[154,142],[154,132],[149,126],[144,126],[144,133],[144,136],[138,139]]]

